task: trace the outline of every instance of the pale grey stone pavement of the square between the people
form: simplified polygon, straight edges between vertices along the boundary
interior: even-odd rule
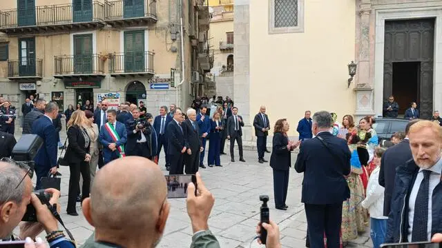
[[[19,138],[19,137],[17,137]],[[62,137],[64,140],[64,137]],[[161,154],[163,156],[163,153]],[[269,154],[265,155],[269,160]],[[238,151],[236,151],[238,161]],[[209,227],[218,238],[222,248],[260,247],[256,241],[256,225],[260,220],[259,196],[267,194],[270,197],[270,218],[280,227],[282,247],[305,247],[306,218],[302,203],[300,203],[302,174],[290,170],[289,194],[287,196],[287,211],[274,208],[273,176],[268,163],[258,163],[256,152],[244,151],[246,163],[230,162],[230,156],[222,155],[223,167],[207,167],[200,169],[206,187],[215,196],[215,205],[209,218]],[[293,154],[294,163],[296,154]],[[205,159],[206,161],[206,159]],[[164,162],[160,159],[164,174]],[[292,167],[293,168],[293,167]],[[66,214],[68,194],[69,169],[61,167],[61,218],[70,229],[79,244],[92,234],[91,227],[77,207],[79,216]],[[34,178],[35,181],[35,178]],[[190,219],[186,213],[184,198],[169,199],[171,212],[166,223],[164,237],[159,247],[190,247],[192,230]],[[128,216],[130,220],[131,216]],[[44,236],[44,235],[41,235]],[[263,246],[262,246],[263,247]],[[357,240],[350,242],[347,247],[372,247],[369,229]]]

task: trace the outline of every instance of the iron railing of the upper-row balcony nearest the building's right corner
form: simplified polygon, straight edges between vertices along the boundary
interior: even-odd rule
[[[106,20],[157,17],[157,1],[144,0],[143,6],[128,6],[126,0],[104,1]]]

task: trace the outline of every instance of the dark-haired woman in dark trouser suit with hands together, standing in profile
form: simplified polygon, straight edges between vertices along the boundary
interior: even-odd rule
[[[273,151],[270,156],[270,167],[273,169],[273,194],[275,196],[275,207],[280,210],[287,210],[285,199],[289,187],[289,169],[291,167],[291,151],[298,147],[300,141],[295,143],[289,141],[287,119],[282,118],[276,121],[273,128]]]

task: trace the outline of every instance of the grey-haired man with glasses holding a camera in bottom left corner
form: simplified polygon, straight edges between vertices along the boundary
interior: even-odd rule
[[[57,219],[48,207],[41,204],[39,198],[32,193],[29,168],[25,172],[17,164],[0,162],[0,188],[0,243],[8,240],[24,240],[26,237],[41,243],[43,240],[35,237],[45,230],[48,234],[46,240],[50,247],[75,247],[72,242],[65,238],[63,231],[59,231]],[[52,194],[49,203],[51,205],[56,204],[59,212],[58,198],[60,192],[57,189],[46,189],[46,192]],[[30,203],[35,207],[39,222],[21,223],[20,236],[16,238],[12,235],[12,231],[19,225],[26,213],[26,207]]]

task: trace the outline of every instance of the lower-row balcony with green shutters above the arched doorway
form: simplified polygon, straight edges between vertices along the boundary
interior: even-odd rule
[[[153,52],[124,52],[109,56],[109,74],[111,76],[149,76],[153,70]]]

